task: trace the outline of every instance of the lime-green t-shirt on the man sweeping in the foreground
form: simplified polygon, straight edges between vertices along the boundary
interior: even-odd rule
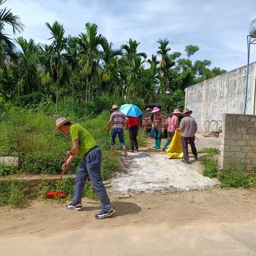
[[[70,126],[70,137],[74,141],[78,139],[79,154],[83,156],[88,150],[97,146],[97,142],[92,138],[92,135],[79,124],[73,124]]]

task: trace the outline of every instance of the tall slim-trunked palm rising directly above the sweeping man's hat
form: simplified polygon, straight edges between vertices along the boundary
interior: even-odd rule
[[[46,27],[50,29],[53,42],[45,52],[45,71],[49,71],[56,86],[56,111],[58,111],[60,85],[65,85],[69,79],[70,65],[74,63],[72,59],[73,49],[68,47],[68,38],[65,37],[65,29],[58,21],[54,21],[51,26],[46,22]]]

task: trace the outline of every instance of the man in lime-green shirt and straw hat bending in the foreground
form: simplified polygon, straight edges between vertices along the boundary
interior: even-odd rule
[[[66,205],[67,209],[82,211],[82,196],[85,182],[88,177],[92,182],[92,186],[101,202],[101,211],[95,215],[96,219],[105,219],[114,214],[110,207],[110,200],[103,185],[100,166],[101,166],[101,150],[97,142],[92,138],[92,135],[79,124],[71,124],[71,119],[61,117],[57,119],[55,132],[62,132],[65,135],[70,135],[73,147],[67,151],[67,161],[62,165],[64,173],[69,164],[76,158],[79,153],[83,157],[83,161],[76,173],[75,191],[73,201]]]

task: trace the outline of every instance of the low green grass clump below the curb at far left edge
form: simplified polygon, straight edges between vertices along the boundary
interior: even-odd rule
[[[25,180],[0,182],[0,204],[22,207],[28,198],[28,186]]]

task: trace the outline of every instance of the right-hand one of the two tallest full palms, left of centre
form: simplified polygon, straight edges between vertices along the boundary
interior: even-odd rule
[[[106,47],[107,39],[98,35],[98,26],[95,23],[85,24],[85,33],[79,34],[77,43],[79,47],[79,62],[86,75],[85,101],[90,100],[91,82],[93,75],[98,74],[101,52],[99,46]]]

